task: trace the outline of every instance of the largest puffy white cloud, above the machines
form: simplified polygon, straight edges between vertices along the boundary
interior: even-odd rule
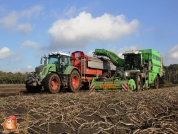
[[[96,41],[119,40],[122,36],[136,32],[138,20],[127,22],[124,15],[104,14],[93,18],[81,12],[69,20],[59,19],[48,30],[51,35],[49,49],[81,48]]]

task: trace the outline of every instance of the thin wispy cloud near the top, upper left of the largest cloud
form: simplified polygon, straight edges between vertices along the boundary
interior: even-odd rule
[[[42,6],[36,5],[29,9],[22,11],[21,16],[26,17],[28,19],[30,19],[31,17],[38,17],[42,10],[43,10]]]

